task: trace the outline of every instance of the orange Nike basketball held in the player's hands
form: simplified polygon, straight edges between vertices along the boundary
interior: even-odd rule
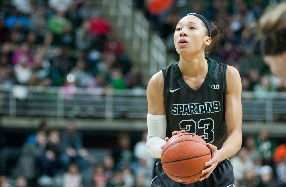
[[[199,180],[204,164],[212,158],[206,141],[193,133],[172,136],[161,153],[163,170],[172,180],[193,183]]]

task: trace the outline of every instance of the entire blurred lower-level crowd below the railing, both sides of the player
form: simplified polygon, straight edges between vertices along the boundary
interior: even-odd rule
[[[0,164],[0,187],[150,187],[154,158],[146,150],[147,132],[140,134],[132,142],[130,132],[118,132],[100,158],[84,147],[76,121],[67,120],[64,129],[43,121],[22,143],[15,164]],[[9,160],[2,150],[1,160]],[[229,159],[236,187],[286,187],[286,144],[267,129],[244,137]]]

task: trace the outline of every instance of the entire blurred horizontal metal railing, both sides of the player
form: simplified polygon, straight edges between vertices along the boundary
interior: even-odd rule
[[[0,115],[144,119],[145,89],[59,88],[0,85]],[[243,120],[286,121],[286,92],[242,93]]]

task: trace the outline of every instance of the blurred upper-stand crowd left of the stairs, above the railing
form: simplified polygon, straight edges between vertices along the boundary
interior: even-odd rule
[[[144,87],[92,0],[0,2],[0,84]]]

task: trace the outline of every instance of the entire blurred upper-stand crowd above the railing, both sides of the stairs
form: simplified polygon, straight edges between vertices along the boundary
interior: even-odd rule
[[[246,91],[285,91],[260,54],[256,24],[277,0],[133,0],[177,59],[173,33],[187,13],[221,25],[210,57],[235,66]],[[3,0],[0,2],[0,84],[146,88],[140,66],[91,0]]]

